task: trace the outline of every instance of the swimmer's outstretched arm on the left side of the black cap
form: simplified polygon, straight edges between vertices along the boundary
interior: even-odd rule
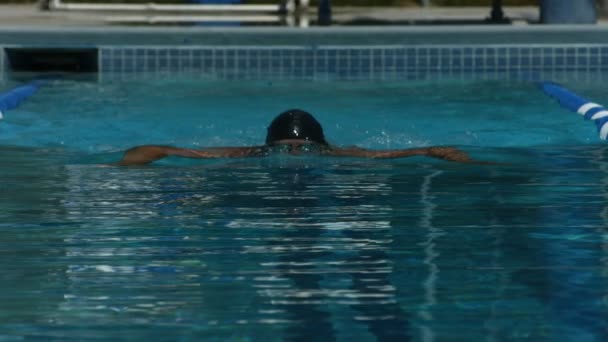
[[[117,163],[121,166],[144,165],[169,156],[184,158],[241,158],[263,155],[261,146],[215,147],[204,150],[172,146],[144,145],[128,149]]]

